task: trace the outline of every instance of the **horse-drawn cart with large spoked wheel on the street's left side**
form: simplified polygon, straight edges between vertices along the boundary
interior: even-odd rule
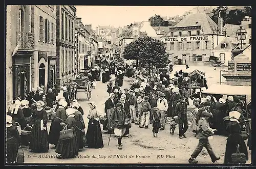
[[[92,83],[88,78],[90,70],[79,72],[76,79],[73,79],[73,84],[77,87],[77,92],[84,91],[87,94],[88,100],[92,97]]]

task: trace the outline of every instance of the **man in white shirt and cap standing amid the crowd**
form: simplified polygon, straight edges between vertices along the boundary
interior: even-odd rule
[[[160,93],[159,99],[157,100],[157,108],[159,108],[159,114],[161,115],[160,123],[161,128],[160,130],[164,130],[164,123],[165,123],[165,114],[168,109],[168,101],[164,98],[165,94]]]

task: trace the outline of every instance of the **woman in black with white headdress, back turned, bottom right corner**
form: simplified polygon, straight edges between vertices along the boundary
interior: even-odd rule
[[[230,164],[232,162],[232,154],[237,152],[237,147],[239,145],[239,152],[245,154],[246,160],[248,160],[248,151],[245,145],[244,139],[241,136],[241,126],[239,122],[239,118],[241,113],[238,111],[230,111],[229,117],[230,122],[227,126],[227,132],[229,133],[227,137],[227,144],[226,144],[226,151],[225,151],[225,158],[224,163]]]

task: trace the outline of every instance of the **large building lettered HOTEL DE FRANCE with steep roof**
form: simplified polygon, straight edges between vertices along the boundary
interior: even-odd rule
[[[225,36],[222,32],[222,18],[217,25],[206,14],[190,14],[161,37],[169,59],[174,64],[199,63],[209,61],[214,48]]]

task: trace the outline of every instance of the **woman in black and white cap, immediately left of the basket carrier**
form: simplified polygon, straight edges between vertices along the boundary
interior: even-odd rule
[[[48,142],[57,146],[59,140],[59,131],[62,130],[61,122],[65,122],[67,119],[65,108],[68,103],[64,100],[59,101],[58,109],[56,110],[56,117],[52,120],[50,132],[48,135]]]

